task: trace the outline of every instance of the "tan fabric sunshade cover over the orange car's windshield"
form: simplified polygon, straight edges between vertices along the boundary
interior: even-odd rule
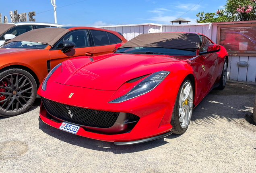
[[[4,44],[15,41],[30,41],[41,42],[53,47],[54,44],[68,32],[69,30],[65,28],[40,28],[25,32],[7,42],[4,42]]]

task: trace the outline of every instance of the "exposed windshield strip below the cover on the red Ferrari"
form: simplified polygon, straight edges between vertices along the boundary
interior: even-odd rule
[[[158,47],[130,47],[120,48],[115,53],[127,54],[162,54],[162,55],[196,55],[196,51],[180,50],[173,48],[158,48]]]

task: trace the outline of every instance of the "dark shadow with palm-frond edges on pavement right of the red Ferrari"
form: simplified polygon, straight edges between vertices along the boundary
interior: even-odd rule
[[[254,125],[252,109],[256,87],[227,82],[224,90],[213,89],[193,110],[191,124],[213,125],[219,121],[241,124],[243,119]]]

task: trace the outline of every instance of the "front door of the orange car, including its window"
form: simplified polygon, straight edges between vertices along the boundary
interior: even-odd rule
[[[63,41],[69,40],[76,44],[76,46],[67,52],[62,52]],[[94,48],[89,42],[89,36],[87,30],[74,30],[68,32],[59,42],[50,49],[50,68],[54,68],[60,62],[73,58],[76,56],[95,56]]]

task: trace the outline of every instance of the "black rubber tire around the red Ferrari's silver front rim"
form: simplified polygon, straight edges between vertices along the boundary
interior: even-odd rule
[[[173,107],[173,112],[172,112],[172,115],[171,115],[171,126],[172,126],[172,133],[174,134],[182,134],[182,133],[185,133],[186,130],[188,129],[188,126],[183,129],[181,124],[180,124],[180,120],[179,120],[179,100],[180,100],[180,93],[182,91],[182,86],[185,82],[190,82],[190,84],[192,85],[190,79],[188,77],[186,77],[182,84],[180,85],[180,89],[179,89],[179,92],[178,92],[178,95],[176,97],[176,101],[175,101],[175,104],[174,104],[174,107]],[[192,89],[193,90],[193,89]],[[194,96],[193,96],[194,97]],[[193,99],[193,98],[192,98]],[[191,117],[190,117],[191,119]],[[190,120],[189,120],[190,122]],[[189,124],[189,123],[188,123]]]

